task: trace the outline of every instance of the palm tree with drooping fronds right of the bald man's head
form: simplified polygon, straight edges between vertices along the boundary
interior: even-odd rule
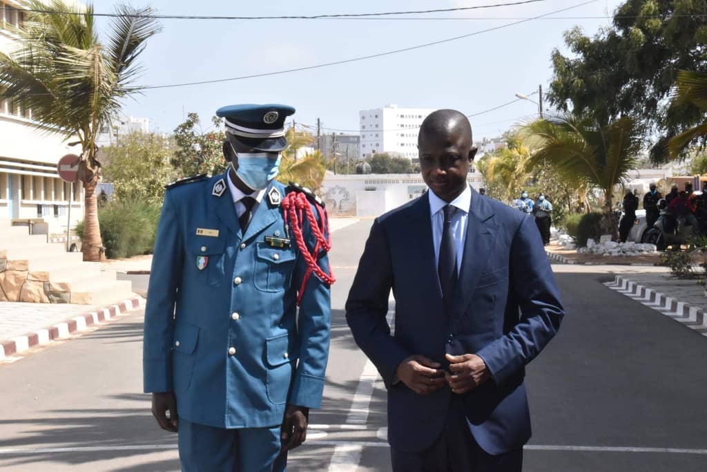
[[[631,117],[600,125],[588,116],[564,115],[530,122],[523,132],[534,142],[530,166],[549,163],[566,180],[583,180],[604,193],[607,231],[615,234],[614,186],[628,178],[641,151],[641,132]]]

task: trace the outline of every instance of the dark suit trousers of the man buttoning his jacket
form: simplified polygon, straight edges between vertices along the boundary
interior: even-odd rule
[[[492,456],[477,444],[459,397],[452,399],[440,437],[426,451],[391,448],[393,472],[520,472],[523,450]]]

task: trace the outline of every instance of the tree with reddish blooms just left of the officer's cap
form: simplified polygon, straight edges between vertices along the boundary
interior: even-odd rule
[[[221,119],[211,118],[216,128],[211,132],[201,129],[199,115],[188,113],[187,120],[175,128],[175,152],[170,163],[179,178],[192,175],[217,175],[226,171],[229,163],[223,159],[226,134],[221,130]]]

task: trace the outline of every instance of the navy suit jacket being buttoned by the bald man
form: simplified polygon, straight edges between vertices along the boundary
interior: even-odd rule
[[[534,219],[472,189],[453,309],[445,316],[427,195],[375,220],[346,301],[356,343],[388,390],[388,441],[427,449],[450,408],[448,386],[420,396],[395,381],[410,355],[442,364],[445,353],[477,354],[491,380],[463,395],[474,439],[503,454],[530,439],[525,364],[547,345],[563,317],[559,291]],[[395,297],[395,334],[385,319]],[[449,321],[448,321],[449,320]]]

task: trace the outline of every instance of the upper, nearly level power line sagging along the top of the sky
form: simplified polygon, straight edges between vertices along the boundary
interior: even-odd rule
[[[417,15],[425,13],[448,13],[450,11],[468,11],[481,10],[486,8],[500,8],[503,6],[517,6],[525,4],[535,4],[540,1],[547,0],[520,0],[504,4],[477,5],[477,6],[458,6],[455,8],[435,8],[432,10],[414,10],[414,11],[385,11],[377,13],[331,13],[312,16],[204,16],[204,15],[160,15],[160,14],[144,14],[144,13],[85,13],[81,11],[57,11],[47,9],[24,9],[32,13],[44,13],[49,15],[78,15],[78,16],[105,16],[109,18],[154,18],[162,20],[320,20],[325,18],[361,18],[370,16],[389,16],[389,15]],[[5,8],[3,8],[4,10]],[[13,8],[13,10],[16,8]]]

